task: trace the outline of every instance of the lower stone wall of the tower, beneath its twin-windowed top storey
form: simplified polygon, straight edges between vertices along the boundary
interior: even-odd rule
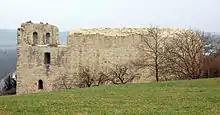
[[[63,58],[65,48],[50,48],[28,46],[21,50],[17,66],[17,92],[28,93],[38,92],[38,81],[43,81],[44,91],[52,91],[54,80],[60,77],[65,70],[66,60]],[[44,64],[44,55],[49,52],[51,55],[51,62],[49,67]]]

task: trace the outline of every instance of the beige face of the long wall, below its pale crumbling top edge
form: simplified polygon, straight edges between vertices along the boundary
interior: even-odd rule
[[[68,42],[67,56],[69,74],[77,74],[80,66],[105,71],[114,64],[125,64],[136,59],[138,50],[133,45],[139,42],[138,37],[138,35],[105,36],[78,33],[69,36],[71,39]]]

